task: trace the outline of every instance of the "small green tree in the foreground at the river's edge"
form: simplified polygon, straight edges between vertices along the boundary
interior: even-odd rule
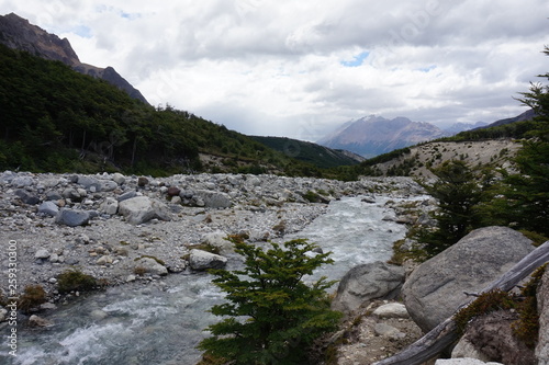
[[[227,301],[210,311],[225,318],[208,328],[212,337],[198,349],[236,365],[307,364],[307,349],[334,331],[341,317],[329,309],[325,292],[334,282],[303,282],[316,267],[333,263],[329,252],[307,255],[316,246],[302,239],[282,247],[270,243],[267,251],[233,242],[245,258],[245,269],[212,271]]]

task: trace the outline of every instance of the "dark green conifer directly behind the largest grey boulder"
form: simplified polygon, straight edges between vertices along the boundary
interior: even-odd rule
[[[474,207],[490,185],[490,179],[479,182],[479,174],[461,160],[445,161],[430,171],[438,180],[422,185],[438,201],[438,210],[434,214],[438,225],[435,230],[421,230],[417,235],[427,256],[446,250],[479,225]]]

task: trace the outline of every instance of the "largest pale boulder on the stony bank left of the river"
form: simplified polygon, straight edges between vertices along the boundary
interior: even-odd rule
[[[154,218],[171,219],[171,214],[165,204],[147,196],[136,196],[120,202],[119,214],[132,225],[141,225]]]

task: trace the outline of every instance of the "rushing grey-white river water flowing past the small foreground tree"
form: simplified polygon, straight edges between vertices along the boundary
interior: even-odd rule
[[[388,260],[392,242],[404,236],[405,227],[382,220],[391,214],[386,201],[380,196],[376,204],[360,197],[332,202],[325,215],[284,240],[306,238],[332,251],[335,264],[315,276],[339,280],[358,264]],[[238,264],[233,258],[227,269]],[[193,365],[200,358],[194,346],[205,337],[203,329],[216,320],[206,309],[223,300],[211,278],[170,275],[164,286],[133,284],[79,298],[47,317],[55,326],[20,329],[18,356],[8,355],[3,345],[0,364]]]

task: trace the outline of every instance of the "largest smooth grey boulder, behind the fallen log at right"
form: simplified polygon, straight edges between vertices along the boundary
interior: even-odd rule
[[[421,264],[402,288],[412,319],[428,332],[534,250],[531,241],[506,227],[485,227]]]

